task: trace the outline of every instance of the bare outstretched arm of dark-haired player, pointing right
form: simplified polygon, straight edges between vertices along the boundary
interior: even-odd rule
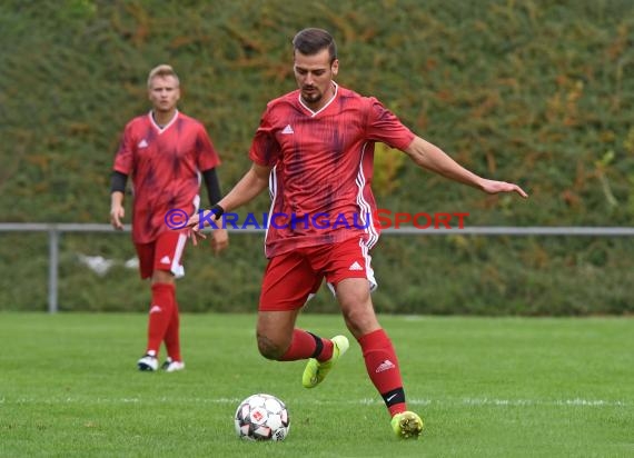
[[[409,146],[403,150],[419,167],[438,173],[450,180],[468,185],[487,193],[517,192],[528,197],[522,188],[506,181],[487,180],[465,169],[447,156],[440,148],[420,137],[414,137]]]

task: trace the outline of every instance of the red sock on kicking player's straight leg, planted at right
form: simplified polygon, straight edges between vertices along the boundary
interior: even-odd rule
[[[396,352],[383,329],[361,336],[359,339],[368,376],[383,397],[389,414],[395,416],[407,410],[403,379]]]

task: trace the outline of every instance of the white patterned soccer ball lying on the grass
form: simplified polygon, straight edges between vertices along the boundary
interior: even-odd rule
[[[273,395],[258,394],[240,402],[236,434],[246,440],[284,440],[290,428],[285,404]]]

